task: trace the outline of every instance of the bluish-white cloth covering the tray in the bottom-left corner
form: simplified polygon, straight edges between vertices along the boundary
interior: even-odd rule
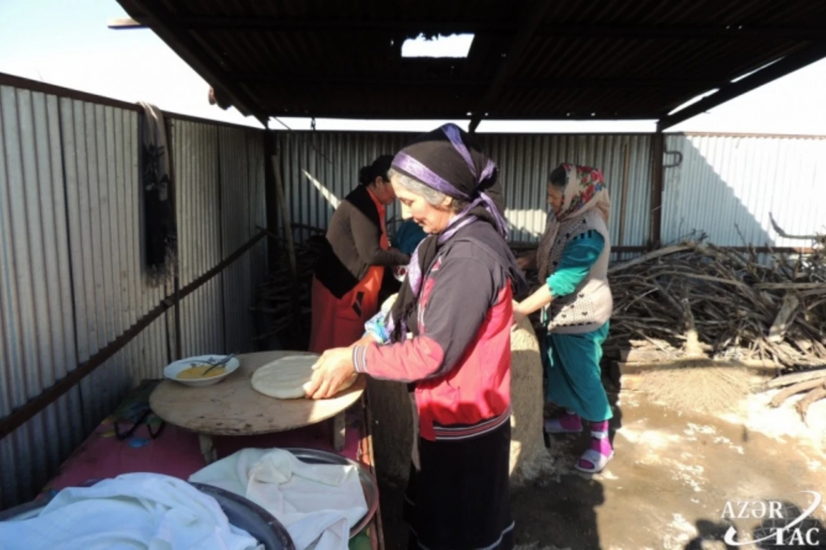
[[[218,502],[187,482],[128,473],[60,491],[35,518],[0,522],[2,550],[249,550]]]

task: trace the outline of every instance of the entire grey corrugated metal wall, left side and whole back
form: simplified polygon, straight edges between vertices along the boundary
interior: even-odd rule
[[[0,415],[35,397],[159,303],[145,279],[139,117],[134,110],[0,87]],[[263,132],[173,119],[180,284],[266,225]],[[292,221],[326,227],[358,168],[410,134],[278,133]],[[600,167],[612,233],[648,241],[651,136],[480,136],[501,168],[512,239],[544,226],[544,182],[558,162]],[[721,245],[800,246],[771,229],[813,233],[826,220],[826,139],[667,136],[663,239],[693,229]],[[666,155],[671,162],[675,155]],[[627,178],[625,176],[628,167]],[[627,189],[624,189],[627,187]],[[624,216],[620,215],[624,204]],[[389,215],[397,214],[396,206]],[[306,233],[300,237],[306,237]],[[265,276],[259,243],[181,305],[183,354],[251,349],[249,306]],[[0,508],[30,498],[136,381],[160,375],[174,317],[161,317],[82,383],[0,440]]]

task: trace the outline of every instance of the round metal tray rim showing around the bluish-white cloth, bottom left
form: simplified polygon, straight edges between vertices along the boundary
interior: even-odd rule
[[[211,487],[202,483],[190,483],[198,491],[211,496],[221,510],[224,510],[230,524],[244,529],[254,537],[266,550],[296,550],[287,529],[275,519],[272,514],[261,506],[218,487]],[[54,495],[36,499],[26,504],[15,506],[0,512],[0,521],[21,521],[31,519],[40,513],[54,498]]]

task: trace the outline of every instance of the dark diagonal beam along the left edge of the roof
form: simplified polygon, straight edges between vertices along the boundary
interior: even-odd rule
[[[145,19],[154,33],[164,40],[176,54],[180,55],[203,78],[206,78],[213,87],[220,89],[236,108],[254,115],[264,128],[267,127],[267,117],[259,111],[253,98],[228,78],[221,65],[212,59],[196,40],[192,39],[186,29],[178,25],[174,16],[161,2],[131,0],[131,3],[145,14]]]

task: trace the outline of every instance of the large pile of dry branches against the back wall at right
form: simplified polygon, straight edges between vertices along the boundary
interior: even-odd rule
[[[822,249],[760,263],[755,253],[684,242],[612,266],[609,279],[615,304],[606,347],[645,341],[678,356],[691,321],[715,358],[826,364]]]

